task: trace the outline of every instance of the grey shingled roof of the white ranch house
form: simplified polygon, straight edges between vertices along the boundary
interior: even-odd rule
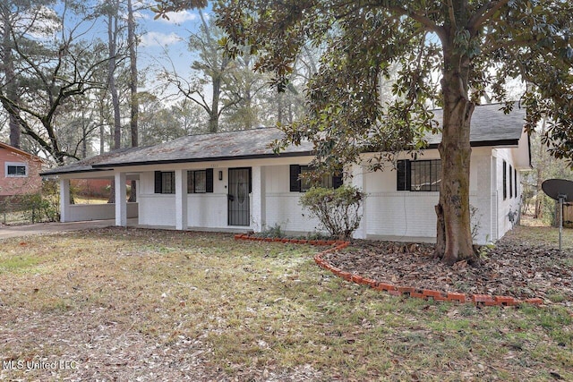
[[[521,137],[526,111],[516,106],[509,115],[504,115],[500,107],[499,104],[475,107],[470,134],[472,146],[517,145]],[[442,111],[434,110],[434,115],[441,125]],[[104,171],[118,166],[312,155],[312,143],[310,142],[303,142],[300,146],[290,146],[285,151],[281,151],[280,155],[275,154],[269,148],[269,143],[282,137],[283,132],[276,128],[190,135],[156,146],[115,150],[58,167],[43,174]],[[440,135],[429,137],[430,149],[436,148],[440,140]]]

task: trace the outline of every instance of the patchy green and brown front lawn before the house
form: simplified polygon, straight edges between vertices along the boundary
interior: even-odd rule
[[[222,233],[0,244],[0,379],[573,380],[564,306],[392,297],[317,267],[316,248]]]

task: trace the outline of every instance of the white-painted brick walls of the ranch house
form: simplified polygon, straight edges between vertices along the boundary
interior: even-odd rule
[[[480,231],[476,242],[483,243],[495,240],[510,228],[509,210],[515,210],[518,198],[502,200],[501,164],[502,158],[512,163],[512,149],[494,150],[498,156],[492,159],[492,150],[475,148],[472,154],[470,169],[470,203],[478,208]],[[428,150],[421,159],[438,158],[437,150]],[[298,159],[300,160],[300,159]],[[297,163],[292,158],[292,163]],[[254,162],[253,162],[254,163]],[[257,165],[261,165],[257,162]],[[242,164],[248,166],[248,163]],[[231,166],[233,167],[233,166]],[[492,170],[495,174],[492,174]],[[164,170],[167,171],[167,170]],[[218,181],[218,171],[224,179]],[[361,166],[353,166],[355,180],[346,182],[361,183],[363,191],[368,193],[366,199],[363,232],[367,237],[423,238],[435,240],[436,215],[434,206],[438,202],[438,192],[396,191],[396,172],[387,169],[383,172],[370,173]],[[264,220],[266,226],[278,224],[287,232],[315,232],[319,222],[311,219],[307,211],[298,204],[301,193],[289,191],[289,164],[264,166]],[[141,225],[175,225],[175,197],[157,195],[153,190],[153,172],[140,175],[140,224]],[[493,184],[497,181],[497,184]],[[360,185],[360,184],[358,184]],[[190,228],[227,228],[227,167],[215,169],[215,192],[212,194],[188,195],[188,222]],[[518,193],[520,190],[518,190]],[[251,195],[251,219],[253,219],[253,202]],[[499,213],[496,205],[500,206]],[[251,222],[252,229],[253,221]]]

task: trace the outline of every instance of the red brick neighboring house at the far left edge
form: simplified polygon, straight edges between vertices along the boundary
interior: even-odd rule
[[[0,142],[0,198],[38,192],[41,158]]]

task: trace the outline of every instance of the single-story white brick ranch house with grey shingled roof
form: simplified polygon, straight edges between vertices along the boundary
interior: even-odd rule
[[[477,106],[472,123],[470,203],[476,208],[473,224],[480,243],[497,240],[512,227],[521,203],[519,172],[530,168],[525,110],[504,115],[499,109]],[[440,111],[435,114],[440,120]],[[60,178],[62,221],[115,217],[115,225],[126,225],[128,217],[137,216],[139,225],[179,230],[258,232],[280,225],[288,233],[313,232],[318,222],[298,203],[305,189],[298,174],[312,160],[312,144],[276,155],[269,143],[282,134],[255,129],[187,136],[121,149],[45,174]],[[368,194],[356,238],[435,240],[440,137],[429,142],[420,160],[401,157],[397,171],[372,173],[367,166],[352,165],[346,167],[344,180],[325,180],[332,186],[349,182]],[[116,184],[136,180],[138,203],[126,203],[120,187],[115,206],[73,206],[69,181],[79,178],[113,178]]]

